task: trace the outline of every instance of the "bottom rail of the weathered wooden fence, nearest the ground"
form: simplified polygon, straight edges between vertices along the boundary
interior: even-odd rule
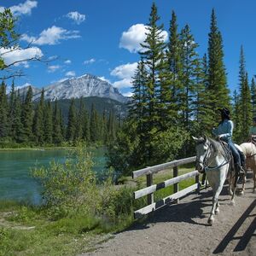
[[[154,212],[155,210],[160,209],[160,207],[164,207],[166,206],[166,204],[171,203],[172,201],[175,201],[181,197],[183,197],[184,195],[189,194],[190,192],[194,191],[195,189],[197,189],[197,184],[193,184],[192,186],[189,186],[186,189],[180,190],[175,194],[169,195],[166,198],[154,202],[153,204],[147,206],[147,207],[143,207],[139,210],[137,210],[136,212],[134,212],[134,218],[141,218],[144,215],[148,214],[149,212]]]

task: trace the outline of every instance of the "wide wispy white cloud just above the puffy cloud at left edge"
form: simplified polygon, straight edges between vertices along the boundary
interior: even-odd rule
[[[67,29],[59,26],[51,26],[47,29],[44,29],[44,31],[40,33],[38,38],[30,37],[27,34],[23,34],[21,40],[38,45],[54,45],[60,44],[61,40],[67,40],[71,38],[80,38],[79,31],[67,31]]]

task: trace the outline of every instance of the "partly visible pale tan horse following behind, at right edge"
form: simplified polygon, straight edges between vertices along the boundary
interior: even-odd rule
[[[253,171],[253,193],[256,192],[256,146],[253,142],[251,143],[241,143],[241,151],[246,156],[246,170],[241,183],[241,195],[244,194],[245,183],[247,181],[247,168]]]

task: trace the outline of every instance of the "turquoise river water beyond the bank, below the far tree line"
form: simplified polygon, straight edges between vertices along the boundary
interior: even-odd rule
[[[95,172],[102,172],[106,159],[104,149],[92,151]],[[0,151],[0,200],[41,201],[40,186],[30,176],[31,168],[49,166],[51,160],[63,163],[66,151],[61,149]]]

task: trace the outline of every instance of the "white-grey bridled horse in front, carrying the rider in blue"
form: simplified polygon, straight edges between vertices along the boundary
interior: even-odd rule
[[[208,183],[212,187],[212,210],[207,223],[212,225],[214,223],[214,214],[218,215],[219,203],[218,196],[223,189],[224,182],[227,178],[231,166],[231,154],[226,151],[221,143],[207,137],[196,138],[193,137],[196,146],[196,160],[195,167],[198,172],[206,172]],[[236,177],[236,183],[237,183]],[[234,205],[235,189],[232,191],[231,204]]]

